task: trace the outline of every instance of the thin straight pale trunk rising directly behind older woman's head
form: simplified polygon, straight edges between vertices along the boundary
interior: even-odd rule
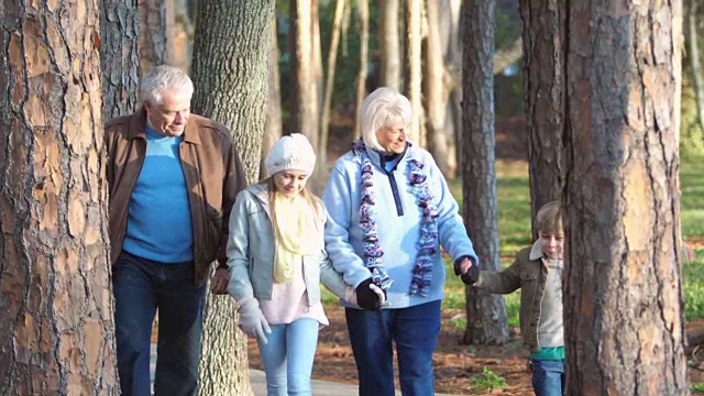
[[[421,87],[422,87],[422,69],[421,59],[421,32],[420,32],[420,12],[422,9],[422,0],[406,1],[406,62],[407,78],[406,96],[410,100],[414,117],[410,124],[410,131],[407,131],[408,139],[416,142],[420,146],[426,144],[425,125],[421,120],[425,119]],[[422,130],[421,130],[422,129]]]

